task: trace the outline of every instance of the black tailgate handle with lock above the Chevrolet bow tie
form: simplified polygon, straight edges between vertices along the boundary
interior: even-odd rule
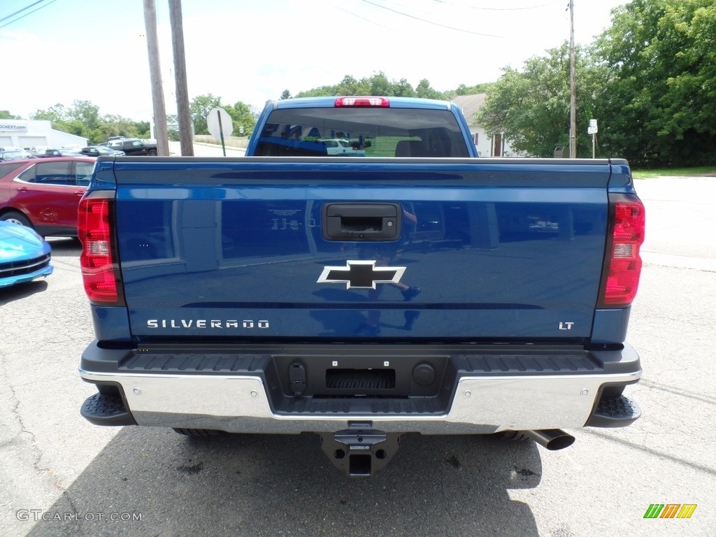
[[[326,203],[326,241],[395,241],[400,238],[402,208],[397,203]]]

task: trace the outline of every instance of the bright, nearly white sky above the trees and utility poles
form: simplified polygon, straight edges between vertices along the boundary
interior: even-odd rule
[[[574,0],[578,44],[627,0]],[[298,92],[384,72],[438,91],[494,82],[569,40],[569,0],[182,0],[190,100],[261,110]],[[29,9],[22,9],[28,7]],[[168,0],[156,0],[166,110],[175,112]],[[15,14],[20,11],[18,14]],[[0,0],[0,110],[28,117],[88,100],[149,121],[142,0]]]

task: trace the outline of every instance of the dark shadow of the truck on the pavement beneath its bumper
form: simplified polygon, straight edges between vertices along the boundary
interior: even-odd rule
[[[405,435],[387,468],[348,478],[317,435],[126,427],[28,535],[537,536],[507,491],[541,473],[536,444],[489,436]]]

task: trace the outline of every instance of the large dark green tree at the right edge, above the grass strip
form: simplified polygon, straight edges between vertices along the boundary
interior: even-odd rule
[[[632,164],[716,163],[716,4],[633,0],[596,41],[604,145]]]

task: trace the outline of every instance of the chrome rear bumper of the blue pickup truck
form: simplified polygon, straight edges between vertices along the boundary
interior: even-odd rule
[[[625,347],[619,355],[614,362],[618,367],[579,373],[495,374],[458,367],[453,379],[442,380],[444,404],[437,406],[427,404],[425,397],[291,397],[260,371],[222,374],[213,369],[197,374],[157,367],[81,367],[80,374],[100,387],[116,387],[137,425],[292,434],[334,432],[352,422],[371,422],[386,432],[487,434],[584,427],[594,419],[604,387],[623,387],[641,377],[636,352]],[[279,407],[277,397],[290,404]]]

